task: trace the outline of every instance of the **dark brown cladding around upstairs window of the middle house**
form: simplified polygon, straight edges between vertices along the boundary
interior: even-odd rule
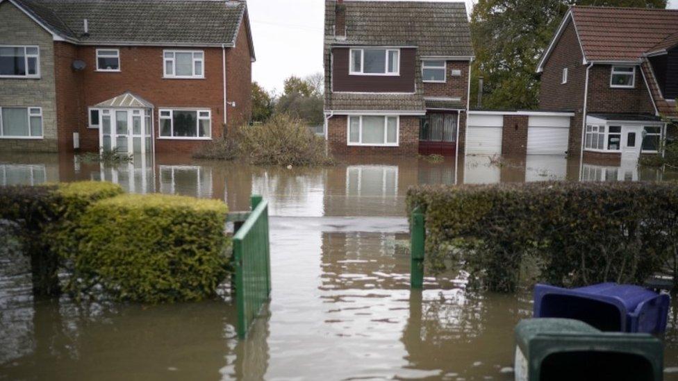
[[[349,48],[332,49],[332,90],[335,92],[415,92],[416,49],[400,49],[399,76],[349,75]]]

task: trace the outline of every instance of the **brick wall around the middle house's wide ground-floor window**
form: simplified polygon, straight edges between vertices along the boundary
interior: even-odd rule
[[[419,117],[400,117],[399,144],[397,147],[349,146],[347,144],[347,117],[331,117],[327,126],[327,141],[333,153],[340,155],[417,155],[419,151]]]

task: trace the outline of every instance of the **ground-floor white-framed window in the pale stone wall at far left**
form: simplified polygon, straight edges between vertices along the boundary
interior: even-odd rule
[[[0,108],[0,137],[42,138],[42,108]]]

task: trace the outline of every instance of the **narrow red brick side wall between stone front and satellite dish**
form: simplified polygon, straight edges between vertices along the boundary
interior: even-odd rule
[[[82,77],[72,69],[78,48],[67,42],[54,42],[56,126],[59,151],[73,151],[73,133],[80,131],[83,93]],[[81,133],[81,146],[83,144]],[[98,146],[98,143],[97,143]]]

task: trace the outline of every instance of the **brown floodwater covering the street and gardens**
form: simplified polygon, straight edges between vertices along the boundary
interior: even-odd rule
[[[228,289],[174,305],[33,300],[28,264],[0,242],[0,379],[513,379],[513,327],[531,294],[465,288],[465,274],[409,289],[410,185],[539,180],[672,180],[676,173],[528,157],[345,158],[286,169],[158,156],[104,167],[72,155],[0,154],[0,185],[112,180],[129,192],[270,202],[272,300],[235,335]],[[675,298],[674,298],[675,300]],[[665,336],[665,379],[678,379],[678,304]]]

